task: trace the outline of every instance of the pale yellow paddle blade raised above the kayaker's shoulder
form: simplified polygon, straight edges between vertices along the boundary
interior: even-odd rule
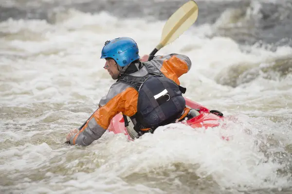
[[[169,19],[166,21],[160,43],[156,46],[159,50],[165,45],[173,42],[184,31],[195,23],[198,18],[199,8],[194,0],[190,0],[183,4]]]

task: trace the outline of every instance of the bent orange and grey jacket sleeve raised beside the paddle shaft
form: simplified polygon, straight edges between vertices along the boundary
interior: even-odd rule
[[[181,54],[169,54],[165,56],[156,56],[151,63],[156,65],[160,71],[169,79],[180,85],[179,77],[187,73],[191,66],[191,60]]]

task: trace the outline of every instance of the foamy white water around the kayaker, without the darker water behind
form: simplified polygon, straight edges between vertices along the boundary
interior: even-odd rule
[[[291,157],[273,155],[268,160],[265,154],[291,155],[292,76],[259,77],[237,88],[214,79],[231,65],[264,64],[291,55],[292,48],[272,52],[255,46],[247,53],[230,38],[206,38],[216,26],[195,26],[159,54],[189,56],[192,69],[181,78],[185,96],[236,115],[237,122],[230,122],[228,130],[173,124],[134,142],[105,133],[85,148],[65,146],[66,134],[91,115],[113,83],[99,59],[104,42],[129,36],[140,54],[147,54],[160,41],[165,21],[121,20],[76,10],[53,18],[53,24],[13,19],[0,23],[4,193],[238,193],[291,187],[291,170],[285,168],[291,169]],[[223,141],[222,134],[233,138]]]

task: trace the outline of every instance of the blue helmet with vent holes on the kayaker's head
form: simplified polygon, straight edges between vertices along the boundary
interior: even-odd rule
[[[112,58],[123,67],[139,59],[140,56],[137,43],[133,39],[120,37],[106,41],[100,58]]]

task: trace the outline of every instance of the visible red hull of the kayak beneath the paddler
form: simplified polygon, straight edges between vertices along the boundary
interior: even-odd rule
[[[202,106],[201,104],[197,102],[193,102],[188,98],[185,98],[186,106],[196,109],[200,114],[198,116],[195,116],[186,122],[183,122],[184,124],[191,126],[192,128],[213,128],[218,127],[220,122],[224,120],[224,116],[221,112],[216,110],[209,110],[206,107]],[[128,136],[129,139],[132,139],[130,135],[128,134],[128,131],[125,128],[124,118],[122,113],[117,114],[115,117],[112,118],[110,122],[110,126],[108,128],[110,131],[113,131],[116,133],[124,133]],[[225,139],[225,138],[223,138]]]

